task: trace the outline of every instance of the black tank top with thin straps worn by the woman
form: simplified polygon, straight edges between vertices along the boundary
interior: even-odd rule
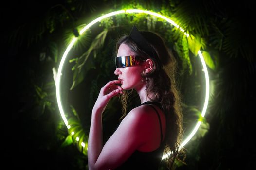
[[[159,102],[147,101],[142,103],[141,105],[144,104],[151,106],[157,113],[161,130],[160,146],[156,150],[151,152],[141,152],[136,150],[134,153],[132,153],[128,160],[125,163],[123,163],[120,167],[118,167],[116,170],[158,170],[160,161],[162,160],[163,157],[165,140],[163,141],[162,123],[160,115],[153,105],[158,106],[162,110],[163,108],[161,103]]]

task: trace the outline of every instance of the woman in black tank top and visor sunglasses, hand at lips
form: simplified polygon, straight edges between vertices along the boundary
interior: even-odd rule
[[[163,39],[133,26],[129,36],[117,42],[113,80],[101,88],[92,109],[88,140],[90,170],[157,170],[163,153],[171,167],[180,152],[182,115],[175,88],[175,59]],[[169,68],[169,70],[167,70]],[[171,73],[170,75],[167,72]],[[119,86],[118,84],[121,84]],[[127,90],[138,93],[141,105],[132,109],[103,144],[102,113],[109,100],[122,95],[126,111]]]

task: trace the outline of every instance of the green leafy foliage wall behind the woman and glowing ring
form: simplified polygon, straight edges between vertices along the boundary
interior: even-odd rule
[[[24,139],[20,144],[23,148],[20,146],[18,149],[20,153],[28,151],[29,158],[38,164],[45,160],[56,166],[69,161],[70,169],[86,169],[86,150],[81,147],[81,142],[88,139],[90,112],[99,89],[115,78],[114,61],[111,58],[115,55],[115,39],[121,34],[128,34],[131,26],[136,24],[140,30],[160,33],[178,59],[178,83],[185,103],[183,110],[186,132],[194,126],[193,122],[202,120],[199,132],[186,146],[187,165],[178,166],[177,169],[235,169],[237,164],[233,165],[232,159],[243,162],[239,165],[241,169],[252,169],[251,162],[254,161],[249,150],[255,149],[251,129],[254,129],[252,104],[255,103],[255,87],[252,80],[256,65],[252,48],[252,27],[248,23],[252,21],[253,5],[220,0],[110,0],[108,3],[106,0],[67,0],[61,4],[48,2],[47,5],[44,11],[34,11],[38,15],[27,15],[25,19],[30,19],[11,28],[8,34],[9,49],[13,47],[22,51],[20,56],[27,56],[18,60],[23,65],[19,66],[19,62],[14,65],[19,68],[16,78],[23,81],[23,86],[16,90],[17,96],[22,96],[18,101],[22,108],[16,109],[18,114],[14,115],[14,119],[28,134],[18,136]],[[33,8],[39,10],[35,6]],[[170,16],[190,36],[186,37],[176,27],[145,14],[109,17],[86,34],[77,34],[91,18],[125,8],[150,9]],[[74,36],[78,41],[65,70],[69,76],[63,79],[63,90],[66,92],[62,98],[71,125],[67,131],[58,114],[55,72],[54,76],[52,72],[55,69],[52,68],[58,67],[65,50],[64,45],[67,46]],[[199,49],[203,53],[211,79],[210,105],[206,118],[200,116],[205,89],[197,57]],[[18,59],[18,54],[13,55]],[[24,100],[29,102],[25,103]],[[136,99],[133,100],[131,104],[136,105]],[[117,98],[109,103],[103,116],[105,141],[118,125],[120,109],[114,107],[116,102]],[[112,124],[106,126],[110,121]],[[27,127],[22,126],[24,124]],[[245,127],[247,129],[244,131]],[[76,133],[71,135],[72,132]],[[76,141],[78,136],[79,141]],[[79,152],[76,152],[76,148]],[[41,160],[33,158],[35,152]],[[63,162],[57,158],[50,160],[48,157],[51,156],[59,157]],[[25,167],[26,164],[27,161],[21,165]]]

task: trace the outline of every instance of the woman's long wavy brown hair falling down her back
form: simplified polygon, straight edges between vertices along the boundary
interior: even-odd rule
[[[146,80],[147,91],[154,94],[152,100],[160,102],[164,109],[166,116],[166,147],[164,154],[172,153],[167,160],[167,165],[171,168],[174,160],[178,159],[179,153],[184,153],[179,148],[183,135],[183,118],[180,93],[176,89],[176,60],[160,35],[150,31],[140,31],[140,33],[155,51],[156,56],[149,56],[128,35],[124,35],[118,40],[116,50],[124,43],[136,55],[153,60],[153,70],[147,74],[142,73],[142,77]],[[123,116],[121,119],[126,115],[128,95],[130,93],[125,91],[121,96],[123,104]]]

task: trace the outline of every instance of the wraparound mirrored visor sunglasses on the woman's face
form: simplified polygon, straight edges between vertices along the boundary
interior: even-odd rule
[[[145,58],[140,56],[135,56],[135,55],[119,56],[115,58],[115,67],[124,68],[129,66],[137,66],[142,61],[145,61]]]

